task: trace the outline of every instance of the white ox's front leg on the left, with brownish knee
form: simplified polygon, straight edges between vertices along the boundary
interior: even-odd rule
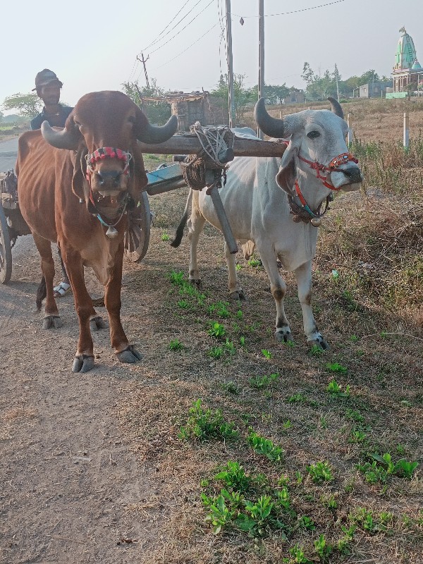
[[[293,337],[290,331],[290,326],[288,319],[286,319],[285,306],[283,299],[286,294],[286,283],[283,281],[281,274],[278,271],[277,257],[274,252],[268,252],[266,249],[272,249],[273,245],[271,242],[266,242],[265,245],[259,245],[257,243],[257,249],[260,253],[260,259],[262,259],[262,264],[266,270],[267,276],[270,280],[270,291],[273,295],[276,305],[276,341],[288,342],[293,341]]]

